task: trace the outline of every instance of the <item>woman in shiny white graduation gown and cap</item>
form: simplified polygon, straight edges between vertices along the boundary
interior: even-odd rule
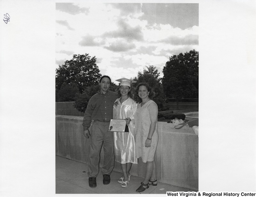
[[[129,132],[113,132],[115,146],[115,160],[121,163],[123,176],[118,180],[122,187],[127,187],[131,179],[130,170],[132,163],[139,163],[135,156],[135,125],[134,114],[137,103],[133,101],[131,93],[131,82],[128,79],[116,80],[120,81],[121,98],[116,99],[113,106],[113,119],[127,119]]]

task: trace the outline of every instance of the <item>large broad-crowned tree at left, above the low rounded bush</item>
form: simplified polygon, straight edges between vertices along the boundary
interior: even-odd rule
[[[57,90],[61,85],[75,83],[82,93],[85,87],[99,83],[101,74],[99,67],[96,65],[96,58],[90,57],[89,54],[73,55],[71,60],[65,61],[65,64],[59,65],[56,69]]]

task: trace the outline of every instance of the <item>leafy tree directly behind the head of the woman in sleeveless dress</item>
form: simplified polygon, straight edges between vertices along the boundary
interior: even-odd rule
[[[156,67],[154,66],[146,66],[148,70],[144,69],[143,73],[138,72],[138,76],[134,77],[132,80],[137,81],[135,84],[135,87],[141,82],[147,82],[150,87],[152,87],[156,93],[155,97],[153,100],[156,102],[158,106],[158,110],[161,111],[164,108],[164,90],[163,86],[160,83],[160,78],[159,78],[159,72],[157,71]],[[134,87],[134,90],[135,90]],[[134,91],[133,90],[133,91]],[[133,92],[134,93],[134,92]]]

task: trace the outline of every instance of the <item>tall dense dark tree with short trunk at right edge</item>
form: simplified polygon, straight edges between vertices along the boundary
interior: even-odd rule
[[[198,98],[198,57],[198,51],[194,49],[184,55],[173,55],[164,66],[164,93],[176,98],[178,109],[180,98]]]

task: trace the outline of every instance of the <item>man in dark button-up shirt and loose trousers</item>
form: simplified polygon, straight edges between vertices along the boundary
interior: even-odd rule
[[[96,177],[99,173],[100,150],[103,143],[104,161],[101,168],[103,184],[110,183],[110,174],[114,168],[113,133],[108,132],[110,119],[113,118],[113,105],[118,98],[117,93],[109,91],[111,80],[109,76],[100,78],[100,90],[90,99],[84,113],[84,136],[90,138],[90,153],[88,162],[89,186],[96,187]],[[94,120],[91,132],[88,130]]]

